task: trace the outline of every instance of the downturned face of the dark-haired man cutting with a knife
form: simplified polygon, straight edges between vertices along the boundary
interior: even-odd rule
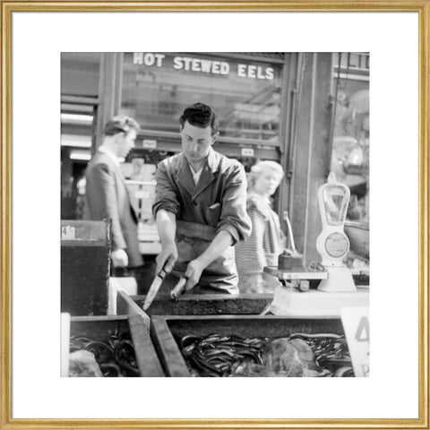
[[[208,156],[211,145],[216,141],[216,135],[212,135],[210,125],[201,128],[185,121],[184,128],[181,130],[181,139],[185,158],[190,163],[196,163]]]

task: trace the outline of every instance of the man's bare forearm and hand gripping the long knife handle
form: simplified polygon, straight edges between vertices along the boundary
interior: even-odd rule
[[[157,255],[157,273],[163,268],[169,273],[177,260],[176,215],[164,209],[157,212],[157,229],[159,230],[159,241],[161,242],[161,253]]]

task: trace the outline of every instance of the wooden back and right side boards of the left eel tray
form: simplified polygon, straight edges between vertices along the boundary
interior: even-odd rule
[[[106,341],[114,333],[130,333],[141,376],[164,376],[150,331],[139,315],[72,316],[70,335]]]

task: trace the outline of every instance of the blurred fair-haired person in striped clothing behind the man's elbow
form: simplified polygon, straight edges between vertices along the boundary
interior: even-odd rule
[[[271,208],[271,195],[284,176],[275,161],[259,161],[248,174],[246,211],[253,222],[251,236],[236,244],[240,293],[270,293],[279,281],[263,273],[264,266],[277,266],[285,247],[280,218]]]

